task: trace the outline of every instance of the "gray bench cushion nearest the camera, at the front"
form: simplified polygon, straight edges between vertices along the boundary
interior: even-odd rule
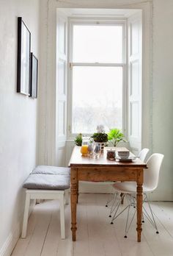
[[[65,190],[70,188],[70,175],[30,174],[23,188]]]

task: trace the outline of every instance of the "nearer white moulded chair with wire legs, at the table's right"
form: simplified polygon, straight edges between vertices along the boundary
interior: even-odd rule
[[[143,204],[143,214],[149,219],[153,227],[155,227],[156,233],[158,233],[158,228],[155,224],[155,218],[153,216],[152,209],[150,207],[150,202],[147,199],[147,193],[154,191],[155,188],[157,188],[158,186],[159,172],[161,169],[161,163],[163,161],[163,157],[164,157],[163,154],[158,154],[158,153],[152,154],[150,158],[147,160],[147,169],[144,169],[144,184],[143,184],[144,200],[143,202],[148,203],[151,217],[149,213],[147,213],[147,211],[145,210],[144,204]],[[122,212],[124,212],[125,209],[128,208],[128,217],[129,217],[130,207],[133,206],[136,208],[136,182],[116,182],[114,183],[113,186],[116,191],[116,196],[114,200],[114,216],[111,219],[111,224],[114,223],[113,221]],[[121,205],[122,198],[119,198],[118,201],[116,200],[119,193],[123,193],[123,197],[126,195],[129,202],[128,206],[124,207],[124,209],[121,210],[120,213],[118,213],[118,210],[119,210],[119,206]],[[135,216],[135,213],[136,213],[136,210],[133,213],[133,217]],[[133,218],[130,221],[130,224],[132,223],[132,221],[133,221]],[[127,218],[126,226],[125,226],[125,238],[127,238],[130,224],[128,226],[128,218]]]

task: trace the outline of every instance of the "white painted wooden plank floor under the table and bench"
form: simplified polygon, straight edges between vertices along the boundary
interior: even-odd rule
[[[141,243],[136,242],[136,220],[124,238],[125,215],[109,224],[106,194],[80,194],[77,241],[71,241],[70,205],[65,208],[66,235],[60,238],[59,202],[36,205],[26,239],[19,239],[12,256],[172,256],[173,202],[152,202],[159,234],[148,221]]]

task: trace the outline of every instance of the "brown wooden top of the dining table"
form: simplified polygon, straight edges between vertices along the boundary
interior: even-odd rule
[[[69,167],[70,166],[116,166],[116,167],[142,167],[147,168],[147,164],[143,163],[139,158],[133,160],[132,162],[120,162],[119,160],[108,160],[107,149],[116,149],[116,151],[122,150],[126,151],[125,147],[105,147],[104,152],[100,154],[99,158],[85,157],[81,155],[81,146],[75,146],[73,149],[73,153],[70,158]],[[130,156],[134,156],[130,153]]]

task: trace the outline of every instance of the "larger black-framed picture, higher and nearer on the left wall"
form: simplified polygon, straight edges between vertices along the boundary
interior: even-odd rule
[[[31,32],[21,17],[18,17],[18,63],[17,92],[30,95]]]

